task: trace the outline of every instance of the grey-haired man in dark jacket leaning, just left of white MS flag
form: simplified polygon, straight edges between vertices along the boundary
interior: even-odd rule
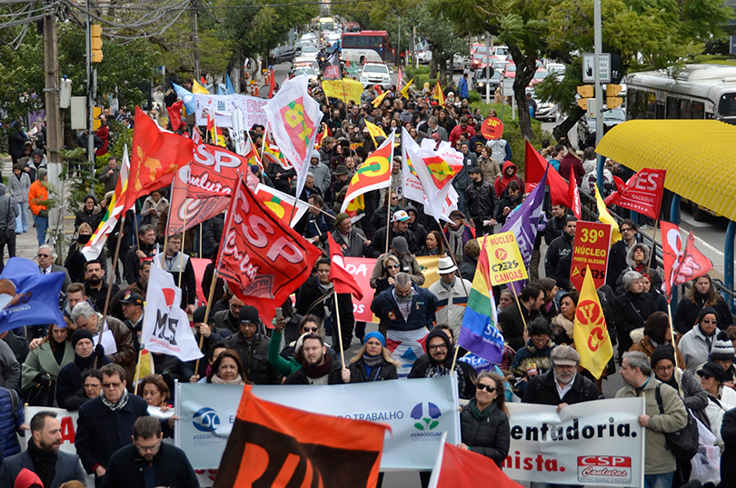
[[[130,329],[112,316],[103,317],[103,314],[94,312],[92,305],[86,302],[75,305],[75,308],[72,310],[72,321],[78,328],[87,329],[94,335],[100,333],[104,322],[107,323],[101,341],[104,347],[104,353],[115,364],[120,364],[125,368],[127,378],[123,379],[128,382],[128,389],[133,391],[136,351]],[[111,334],[112,337],[110,337]],[[94,342],[98,342],[98,339],[95,339]]]

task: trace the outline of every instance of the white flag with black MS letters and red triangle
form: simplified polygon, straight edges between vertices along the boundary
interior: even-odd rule
[[[189,318],[179,308],[182,290],[174,284],[174,276],[159,266],[151,266],[141,344],[152,353],[176,356],[192,361],[204,354],[199,350]]]

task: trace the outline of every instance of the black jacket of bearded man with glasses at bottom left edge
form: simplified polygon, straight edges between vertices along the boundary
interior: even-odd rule
[[[145,483],[144,469],[149,465],[154,468],[154,484]],[[131,444],[126,445],[110,458],[102,486],[103,488],[127,488],[129,486],[199,488],[199,480],[186,454],[178,447],[161,443],[158,453],[154,455],[154,459],[149,464]]]

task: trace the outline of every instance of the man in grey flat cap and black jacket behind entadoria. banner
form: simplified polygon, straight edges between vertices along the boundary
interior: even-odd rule
[[[526,387],[523,403],[557,405],[560,412],[568,404],[598,400],[598,386],[577,372],[580,354],[569,345],[552,349],[552,369],[534,376]],[[560,392],[562,397],[560,396]]]

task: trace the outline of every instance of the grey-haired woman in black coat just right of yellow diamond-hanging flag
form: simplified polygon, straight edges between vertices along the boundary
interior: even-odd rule
[[[619,338],[619,357],[633,345],[632,330],[644,326],[651,314],[657,312],[657,304],[651,294],[644,293],[642,274],[630,271],[623,275],[626,293],[613,300],[613,316]]]

